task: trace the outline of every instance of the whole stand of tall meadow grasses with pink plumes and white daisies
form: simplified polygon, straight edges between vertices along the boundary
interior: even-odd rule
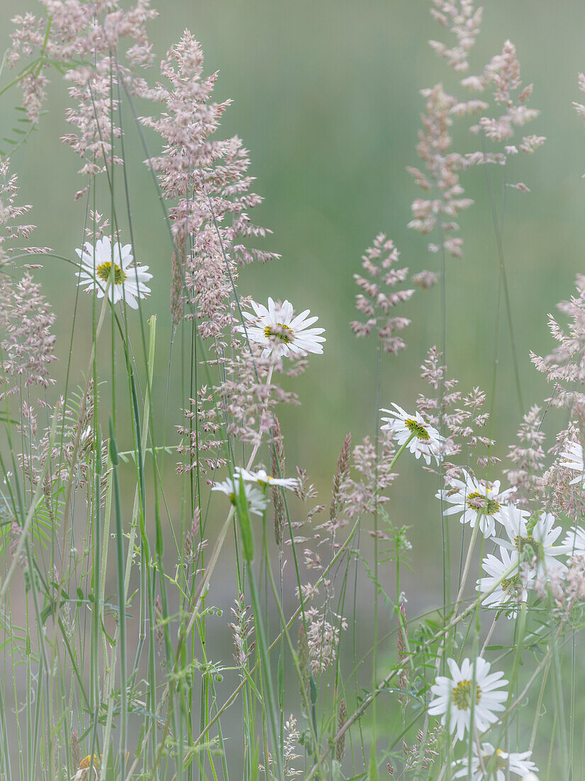
[[[20,90],[22,121],[0,157],[2,781],[583,779],[585,276],[548,316],[555,346],[531,359],[550,394],[529,402],[504,226],[544,143],[533,87],[510,41],[477,66],[473,0],[433,0],[431,14],[445,71],[421,91],[408,169],[420,192],[409,226],[428,237],[434,270],[411,273],[384,233],[363,254],[348,319],[374,342],[363,396],[375,426],[312,432],[339,447],[325,493],[287,457],[282,411],[339,334],[303,301],[257,301],[238,283],[279,255],[251,216],[262,198],[249,153],[222,136],[229,101],[215,102],[200,43],[185,30],[154,65],[149,0],[41,0],[13,20],[2,100]],[[50,80],[65,82],[61,141],[80,159],[63,205],[79,219],[76,247],[30,244],[16,173],[33,133],[51,155]],[[137,149],[162,256],[136,229]],[[498,268],[486,391],[462,387],[447,362],[447,285],[477,166]],[[170,305],[154,311],[161,290]],[[441,320],[412,395],[396,398],[383,369],[406,348],[414,296],[438,296]],[[503,335],[519,409],[505,462],[493,437]],[[344,378],[323,377],[324,394],[330,383]],[[425,490],[442,586],[417,615],[410,573],[424,565],[392,498]]]

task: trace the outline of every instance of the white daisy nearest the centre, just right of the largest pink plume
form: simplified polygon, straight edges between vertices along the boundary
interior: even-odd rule
[[[262,357],[268,355],[285,355],[289,358],[307,355],[309,352],[322,353],[325,337],[324,328],[310,328],[317,322],[317,317],[307,317],[310,309],[305,309],[300,315],[293,317],[293,305],[289,301],[283,304],[275,303],[268,298],[268,308],[256,301],[250,301],[252,312],[242,312],[246,318],[246,326],[238,326],[240,333],[246,333],[250,341],[264,347]]]

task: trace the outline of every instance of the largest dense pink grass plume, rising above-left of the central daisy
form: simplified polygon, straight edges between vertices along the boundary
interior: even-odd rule
[[[221,352],[224,331],[236,324],[232,295],[239,265],[279,256],[246,248],[247,241],[269,233],[250,219],[250,209],[262,198],[250,191],[249,153],[239,137],[212,138],[230,101],[212,100],[218,73],[204,76],[203,66],[200,44],[185,30],[161,63],[164,83],[144,91],[161,104],[161,113],[141,121],[164,142],[162,154],[146,162],[172,201],[176,273],[184,279],[200,336]]]

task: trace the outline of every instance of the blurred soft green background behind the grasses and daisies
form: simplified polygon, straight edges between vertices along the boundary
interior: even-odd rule
[[[456,84],[427,45],[430,37],[447,40],[445,30],[431,20],[429,5],[428,0],[165,0],[158,4],[160,18],[150,25],[157,62],[185,27],[193,32],[204,48],[206,73],[220,70],[215,99],[233,99],[219,135],[238,134],[250,149],[255,189],[265,198],[254,219],[274,231],[263,246],[280,253],[282,261],[243,269],[240,291],[258,301],[268,295],[289,298],[297,310],[310,308],[327,330],[324,355],[312,356],[307,373],[288,386],[300,394],[303,406],[282,414],[289,471],[296,464],[306,467],[324,502],[343,437],[351,430],[357,442],[378,425],[375,345],[356,340],[349,328],[356,294],[353,273],[360,271],[360,255],[384,231],[412,273],[439,270],[437,256],[427,253],[427,239],[406,229],[410,202],[420,194],[406,173],[406,166],[418,165],[415,146],[424,108],[419,91],[438,81],[447,89]],[[581,97],[577,73],[585,69],[585,4],[489,0],[484,6],[471,72],[480,72],[511,39],[524,84],[534,82],[530,105],[541,109],[527,131],[548,137],[534,156],[512,159],[509,180],[525,182],[531,192],[508,191],[505,212],[505,262],[526,412],[548,393],[528,351],[550,351],[547,313],[555,311],[557,301],[569,298],[574,276],[585,266],[585,134],[571,105]],[[26,9],[37,11],[34,0],[2,0],[3,48],[9,45],[9,20]],[[150,77],[156,78],[154,70]],[[84,218],[83,201],[73,201],[73,194],[85,182],[76,174],[76,155],[58,141],[69,132],[64,111],[70,102],[58,74],[51,78],[41,131],[20,149],[13,170],[20,177],[22,200],[34,205],[30,221],[38,230],[33,242],[73,258]],[[2,97],[2,135],[14,124],[16,105],[17,91]],[[169,333],[168,235],[132,128],[127,145],[136,254],[151,267],[156,281],[144,313],[160,316],[164,356]],[[477,138],[456,131],[456,148],[473,151]],[[494,169],[491,173],[500,175]],[[476,203],[459,219],[464,257],[447,261],[449,376],[459,378],[463,391],[476,385],[490,391],[498,280],[495,233],[483,169],[464,175],[463,184]],[[108,207],[105,198],[101,210],[107,214]],[[41,276],[58,314],[64,366],[76,278],[69,266],[53,259]],[[73,341],[78,374],[87,362],[89,309],[83,309]],[[441,341],[440,288],[417,292],[396,313],[413,322],[405,334],[407,351],[384,360],[381,400],[382,406],[396,401],[412,409],[417,394],[427,390],[418,367],[427,348]],[[166,368],[166,357],[161,357],[159,388],[164,388]],[[180,422],[179,409],[186,405],[179,383],[174,388],[170,424]],[[521,412],[505,319],[496,393],[488,398],[488,408],[492,402],[492,433],[503,457]],[[551,415],[548,446],[562,423]],[[169,427],[168,437],[173,436]],[[437,485],[432,476],[421,476],[413,459],[401,463],[405,479],[388,506],[396,525],[413,527],[418,588],[412,599],[424,609],[436,604],[441,583],[440,523],[433,498]],[[406,590],[414,583],[407,579]]]

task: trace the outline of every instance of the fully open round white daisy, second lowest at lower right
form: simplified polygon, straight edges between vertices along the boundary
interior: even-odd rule
[[[451,733],[457,733],[457,740],[463,740],[470,729],[473,703],[473,726],[480,732],[488,729],[498,720],[495,715],[505,709],[508,697],[505,691],[496,691],[507,686],[503,672],[490,672],[490,664],[480,656],[473,664],[463,659],[461,669],[455,659],[447,659],[451,677],[437,676],[431,686],[434,700],[428,706],[431,716],[441,715],[441,724],[448,726]]]

